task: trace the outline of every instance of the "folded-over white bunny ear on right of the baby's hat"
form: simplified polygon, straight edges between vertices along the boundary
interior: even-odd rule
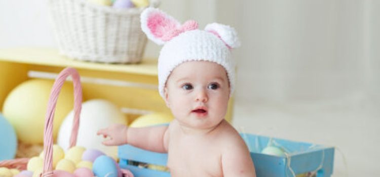
[[[219,23],[211,23],[206,25],[205,30],[218,36],[230,49],[240,47],[238,33],[231,26]]]

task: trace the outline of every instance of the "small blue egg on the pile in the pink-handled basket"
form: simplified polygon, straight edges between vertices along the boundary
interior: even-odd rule
[[[92,164],[92,172],[96,176],[118,177],[118,167],[111,157],[102,155]]]

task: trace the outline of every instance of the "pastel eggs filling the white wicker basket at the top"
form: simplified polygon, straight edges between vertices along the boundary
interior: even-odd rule
[[[112,6],[116,9],[144,8],[149,6],[148,0],[89,0],[91,3],[101,6]]]

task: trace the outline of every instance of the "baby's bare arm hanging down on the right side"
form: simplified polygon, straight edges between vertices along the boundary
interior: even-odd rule
[[[247,146],[240,138],[234,141],[237,142],[230,142],[222,152],[223,175],[255,177],[255,168]]]

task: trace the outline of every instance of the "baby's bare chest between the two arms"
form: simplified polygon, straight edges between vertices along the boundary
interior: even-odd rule
[[[174,139],[168,149],[168,167],[172,176],[222,176],[217,144]]]

